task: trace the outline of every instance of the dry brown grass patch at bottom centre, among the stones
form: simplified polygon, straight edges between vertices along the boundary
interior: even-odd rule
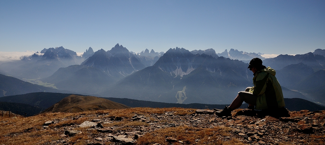
[[[173,127],[155,130],[145,134],[137,140],[137,144],[149,145],[159,143],[161,145],[170,144],[166,141],[167,137],[175,138],[184,144],[224,144],[224,145],[239,145],[243,144],[238,139],[224,141],[222,137],[229,136],[231,128],[215,127],[215,128],[193,128],[193,127]],[[180,142],[173,142],[174,145],[181,145]]]

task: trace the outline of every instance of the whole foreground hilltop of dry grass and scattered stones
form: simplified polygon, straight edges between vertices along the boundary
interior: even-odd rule
[[[290,117],[217,117],[213,110],[126,108],[0,117],[0,144],[324,144],[325,110]],[[12,115],[12,114],[11,114]]]

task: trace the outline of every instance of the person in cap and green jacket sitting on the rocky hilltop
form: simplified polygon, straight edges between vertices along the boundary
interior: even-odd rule
[[[231,111],[239,108],[243,102],[249,104],[250,109],[255,106],[257,110],[267,110],[266,112],[273,110],[275,114],[277,110],[283,110],[285,104],[281,86],[275,77],[275,70],[270,67],[266,68],[259,58],[253,58],[248,68],[254,73],[254,86],[238,92],[230,106],[226,106],[222,111],[216,111],[217,116],[231,116]]]

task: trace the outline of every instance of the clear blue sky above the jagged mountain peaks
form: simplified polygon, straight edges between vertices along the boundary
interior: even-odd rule
[[[325,1],[0,1],[0,51],[325,49]]]

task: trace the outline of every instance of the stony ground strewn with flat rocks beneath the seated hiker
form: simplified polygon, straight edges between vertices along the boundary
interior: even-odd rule
[[[107,114],[80,114],[71,118],[49,120],[41,129],[52,129],[60,133],[60,139],[49,140],[42,144],[74,144],[73,137],[78,134],[87,136],[85,144],[217,144],[218,142],[237,140],[237,144],[324,144],[325,143],[325,110],[310,112],[302,110],[290,112],[290,117],[274,118],[270,116],[245,116],[248,109],[232,112],[233,117],[217,117],[213,110],[187,110],[187,113],[166,111],[164,113],[136,114],[133,117],[112,117]],[[241,114],[241,115],[238,115]],[[55,125],[63,121],[78,120],[88,117],[80,124]],[[127,124],[127,125],[125,125]],[[143,143],[138,140],[166,128],[228,128],[226,135],[215,135],[201,141],[186,142],[177,135],[164,136],[161,143]],[[25,132],[28,132],[25,131]],[[6,134],[1,138],[12,137]],[[209,140],[210,139],[210,140]],[[202,139],[203,140],[203,139]]]

